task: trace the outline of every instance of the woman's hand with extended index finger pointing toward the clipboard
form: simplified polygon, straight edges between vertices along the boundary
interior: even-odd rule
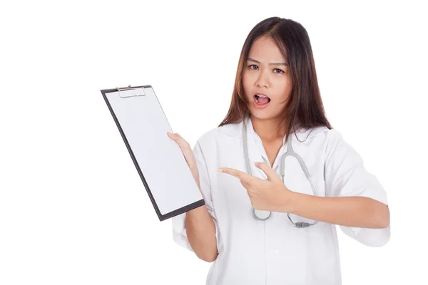
[[[220,167],[218,171],[238,177],[243,187],[247,190],[254,209],[271,212],[290,212],[294,192],[284,185],[280,175],[265,162],[256,162],[255,166],[265,172],[266,180],[228,167]]]

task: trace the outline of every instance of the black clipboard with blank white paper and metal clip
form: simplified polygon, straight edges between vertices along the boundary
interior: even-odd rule
[[[160,221],[205,204],[152,86],[101,90]]]

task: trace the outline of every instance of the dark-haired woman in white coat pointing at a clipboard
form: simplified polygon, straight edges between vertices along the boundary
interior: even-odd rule
[[[272,17],[245,40],[228,114],[190,148],[205,206],[173,217],[173,239],[213,262],[206,284],[341,283],[336,225],[389,241],[387,195],[325,117],[305,28]]]

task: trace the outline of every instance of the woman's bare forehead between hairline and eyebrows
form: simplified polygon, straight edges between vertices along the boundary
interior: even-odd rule
[[[280,48],[278,48],[275,41],[269,36],[261,36],[253,41],[250,47],[248,57],[254,58],[263,63],[270,61],[284,62],[285,58],[282,56]]]

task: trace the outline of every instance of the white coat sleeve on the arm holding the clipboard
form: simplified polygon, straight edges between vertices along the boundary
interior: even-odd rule
[[[220,234],[218,230],[217,217],[215,216],[215,210],[213,207],[213,201],[211,199],[210,177],[208,176],[207,166],[205,164],[205,159],[199,141],[196,142],[195,147],[193,147],[193,154],[195,155],[196,165],[199,171],[200,192],[202,193],[203,199],[205,200],[205,206],[202,207],[206,207],[211,217],[213,217],[213,221],[215,224],[215,237],[217,238],[217,248],[219,250]],[[192,247],[190,247],[190,243],[188,241],[187,233],[185,230],[185,215],[186,213],[183,213],[172,218],[173,240],[178,245],[194,252]]]

